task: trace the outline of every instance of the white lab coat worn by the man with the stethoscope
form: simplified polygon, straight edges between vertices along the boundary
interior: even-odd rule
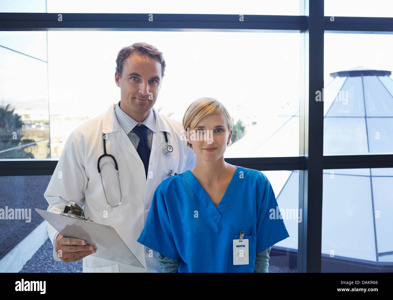
[[[105,114],[98,116],[75,129],[68,137],[59,162],[50,180],[44,197],[49,203],[48,211],[62,213],[68,201],[84,205],[84,217],[97,223],[114,226],[132,253],[145,269],[132,267],[116,261],[89,255],[83,258],[83,272],[162,272],[158,253],[141,245],[140,236],[150,211],[151,201],[157,186],[167,178],[169,169],[183,173],[196,166],[196,156],[186,141],[181,138],[182,124],[157,110],[156,133],[153,133],[148,178],[142,160],[127,134],[116,119],[112,104]],[[171,155],[164,155],[163,131],[167,132]],[[107,133],[107,153],[115,157],[119,169],[122,205],[108,208],[97,170],[97,160],[103,152],[103,133]],[[110,158],[102,158],[101,175],[112,205],[119,202],[116,171]],[[48,225],[48,234],[54,243],[57,231]],[[53,258],[57,253],[53,250]]]

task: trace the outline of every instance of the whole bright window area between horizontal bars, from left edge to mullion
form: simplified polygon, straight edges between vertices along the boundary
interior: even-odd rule
[[[39,49],[45,49],[46,46],[37,49],[30,47],[31,44],[35,44],[34,41],[37,41],[37,44],[44,43],[44,39],[37,35],[37,40],[34,40],[34,35],[29,35],[29,32],[19,32],[17,36],[22,40],[24,34],[25,37],[29,37],[29,41],[20,45],[13,41],[10,38],[12,35],[8,33],[4,33],[2,37],[3,41],[8,41],[7,46],[14,47],[15,50],[28,52],[29,55],[41,55],[44,58],[45,52],[40,52]],[[287,88],[283,90],[282,81],[276,80],[282,77],[283,69],[288,70],[286,72],[288,78],[299,79],[298,34],[53,31],[48,32],[50,61],[48,68],[51,75],[49,91],[45,62],[4,48],[0,52],[4,53],[0,85],[0,96],[4,98],[2,105],[4,111],[8,104],[7,111],[15,108],[12,118],[22,121],[21,125],[15,124],[15,126],[24,126],[23,130],[20,129],[23,131],[23,136],[18,133],[19,129],[11,131],[11,133],[18,133],[12,140],[8,132],[2,133],[4,140],[2,140],[0,156],[59,158],[66,138],[76,127],[103,114],[112,103],[119,101],[119,90],[113,82],[117,53],[127,45],[124,44],[124,40],[144,39],[151,40],[159,46],[167,61],[166,76],[156,109],[175,120],[182,121],[189,103],[209,95],[226,105],[237,129],[237,134],[232,138],[233,144],[226,153],[227,157],[298,155],[299,82],[288,80],[285,83]],[[182,40],[184,49],[192,50],[179,52],[173,47],[173,40]],[[236,44],[233,43],[234,40],[237,40]],[[206,43],[211,47],[203,46]],[[274,46],[266,47],[266,43]],[[75,47],[75,44],[78,47]],[[92,44],[100,51],[91,51]],[[250,55],[237,55],[234,61],[233,52],[243,51],[239,46],[241,44],[253,44],[260,49],[263,57],[270,57],[270,59],[259,60]],[[292,46],[286,47],[288,44]],[[231,52],[223,54],[223,48],[231,49]],[[81,55],[81,53],[88,53],[89,59],[86,59],[87,54]],[[11,63],[13,61],[17,61],[17,66]],[[97,61],[100,63],[97,64]],[[81,80],[81,76],[75,75],[75,70],[81,70],[81,66],[84,66],[83,70],[89,70],[94,76],[84,76]],[[16,83],[22,80],[23,73],[29,80],[24,81],[26,86],[21,89],[16,86]],[[244,89],[244,84],[251,77],[258,78],[258,88],[262,89],[263,93]],[[234,78],[237,85],[233,85]],[[219,82],[220,85],[218,87],[217,84],[201,85],[205,82]],[[195,88],[196,85],[198,88]],[[175,95],[174,90],[177,91]],[[279,94],[277,90],[280,90]],[[48,145],[48,92],[50,145]],[[18,136],[22,141],[17,140]],[[28,143],[29,145],[20,147]],[[283,146],[284,144],[286,147]],[[245,147],[247,151],[244,151]]]

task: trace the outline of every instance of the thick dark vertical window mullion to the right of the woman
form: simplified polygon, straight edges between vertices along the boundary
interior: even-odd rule
[[[321,272],[323,102],[315,101],[323,88],[324,1],[301,0],[308,28],[301,33],[301,90],[299,154],[307,169],[299,171],[298,272]],[[303,13],[303,11],[301,11]],[[304,125],[304,131],[303,131]]]

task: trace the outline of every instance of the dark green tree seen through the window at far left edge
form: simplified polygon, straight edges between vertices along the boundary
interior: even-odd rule
[[[13,147],[22,146],[24,144],[35,142],[34,140],[23,140],[22,132],[22,116],[14,114],[14,109],[10,109],[10,104],[6,107],[0,106],[0,158],[34,158],[30,152],[26,152],[24,148],[12,149]]]

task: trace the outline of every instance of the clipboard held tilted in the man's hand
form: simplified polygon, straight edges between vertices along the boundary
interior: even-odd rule
[[[97,251],[90,254],[91,256],[145,269],[113,226],[48,212],[38,208],[35,208],[35,211],[62,236],[83,239],[86,241],[86,244],[92,245]]]

